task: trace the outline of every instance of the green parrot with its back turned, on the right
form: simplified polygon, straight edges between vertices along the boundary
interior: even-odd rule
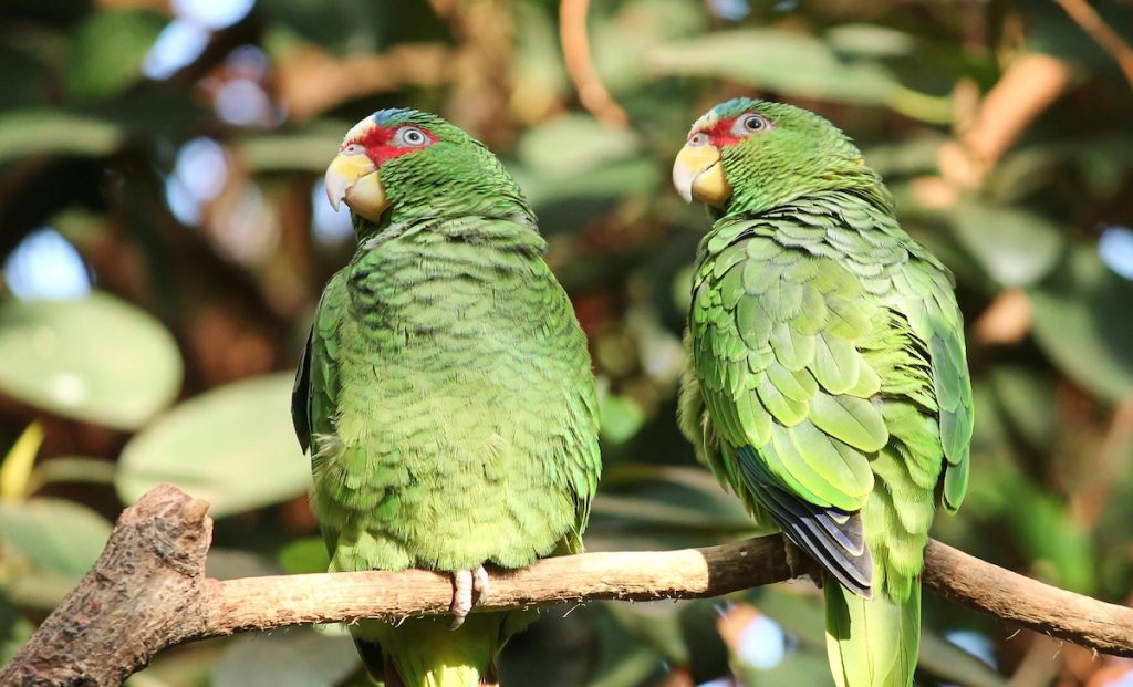
[[[936,501],[954,512],[968,484],[952,274],[901,229],[853,143],[807,110],[717,105],[673,184],[714,219],[693,272],[681,429],[756,519],[827,572],[835,682],[905,687]]]

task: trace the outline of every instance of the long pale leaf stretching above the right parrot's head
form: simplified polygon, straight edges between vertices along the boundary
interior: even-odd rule
[[[811,35],[773,28],[725,31],[650,53],[662,74],[735,80],[784,95],[886,105],[928,121],[951,119],[947,97],[911,91],[880,62],[843,59]]]

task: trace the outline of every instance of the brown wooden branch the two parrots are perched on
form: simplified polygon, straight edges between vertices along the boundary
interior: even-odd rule
[[[0,685],[119,685],[159,651],[187,641],[449,609],[450,579],[424,570],[210,579],[207,507],[162,484],[127,508],[83,582],[0,670]],[[1028,579],[939,542],[930,542],[925,557],[925,585],[946,599],[1133,656],[1133,609]],[[475,610],[700,599],[796,572],[778,535],[705,549],[585,553],[494,570],[491,595]]]

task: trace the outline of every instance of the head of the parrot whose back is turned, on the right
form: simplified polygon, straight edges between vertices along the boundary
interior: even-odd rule
[[[832,190],[891,203],[880,177],[833,124],[748,97],[721,103],[692,125],[673,164],[673,185],[685,201],[704,201],[721,214],[764,212]]]

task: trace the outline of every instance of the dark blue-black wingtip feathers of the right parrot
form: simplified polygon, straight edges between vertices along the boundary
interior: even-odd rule
[[[874,558],[866,545],[861,514],[815,506],[776,484],[751,447],[738,452],[744,483],[796,546],[813,558],[840,584],[870,597]]]

